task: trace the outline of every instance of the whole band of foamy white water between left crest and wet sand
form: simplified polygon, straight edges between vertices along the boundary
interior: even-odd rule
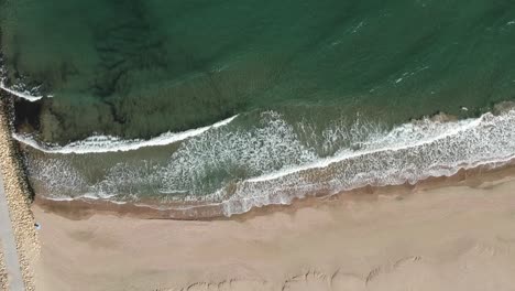
[[[325,159],[307,146],[310,142],[299,142],[298,131],[281,115],[265,112],[260,118],[254,129],[219,128],[191,137],[164,164],[145,160],[116,163],[106,169],[102,181],[94,184],[65,157],[34,161],[31,174],[45,185],[48,197],[87,194],[138,202],[140,195],[154,188],[165,196],[160,205],[163,208],[166,202],[202,202],[220,205],[230,216],[252,207],[289,204],[295,197],[318,191],[331,194],[365,185],[415,183],[452,175],[460,169],[500,165],[515,157],[514,110],[460,121],[424,119],[390,131],[370,125],[328,129],[316,137],[319,146],[344,138],[360,147],[340,147]],[[241,171],[244,176],[239,175]],[[206,191],[205,179],[213,183],[220,173],[232,180],[215,180],[213,185],[221,183],[218,190]]]

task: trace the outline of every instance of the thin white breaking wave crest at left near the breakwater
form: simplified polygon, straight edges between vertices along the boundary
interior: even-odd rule
[[[13,139],[17,141],[30,146],[36,150],[46,153],[105,153],[105,152],[125,152],[133,151],[145,147],[160,147],[167,146],[177,141],[182,141],[188,138],[199,136],[210,129],[219,128],[229,125],[234,120],[238,115],[230,118],[223,119],[216,123],[212,123],[207,127],[189,129],[182,132],[165,132],[158,137],[149,139],[149,140],[123,140],[118,137],[112,136],[94,136],[89,137],[81,141],[74,141],[66,146],[55,146],[55,144],[42,144],[34,140],[31,136],[19,134],[17,132],[12,133]]]

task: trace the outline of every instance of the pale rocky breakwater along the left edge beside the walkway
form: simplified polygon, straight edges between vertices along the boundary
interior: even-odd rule
[[[18,144],[11,139],[13,128],[11,109],[11,96],[0,91],[0,169],[23,280],[26,290],[34,290],[34,265],[40,254],[40,244],[34,227],[34,216],[30,208],[31,191]]]

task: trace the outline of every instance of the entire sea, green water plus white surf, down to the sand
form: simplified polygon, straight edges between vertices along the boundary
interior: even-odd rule
[[[0,35],[47,198],[230,215],[515,154],[513,1],[0,0]]]

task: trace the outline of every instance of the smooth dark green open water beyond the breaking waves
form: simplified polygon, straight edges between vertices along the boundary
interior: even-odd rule
[[[55,95],[40,118],[51,142],[149,138],[264,108],[402,122],[514,96],[513,1],[4,0],[0,11],[10,82]]]

